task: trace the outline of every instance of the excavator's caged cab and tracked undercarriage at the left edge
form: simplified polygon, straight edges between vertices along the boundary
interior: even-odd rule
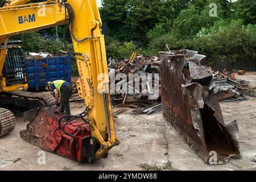
[[[54,103],[49,93],[26,92],[27,79],[25,55],[20,40],[9,40],[7,55],[0,79],[0,137],[13,131],[16,123],[14,114],[33,110]]]

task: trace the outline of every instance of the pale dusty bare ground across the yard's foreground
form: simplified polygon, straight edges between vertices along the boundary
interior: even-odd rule
[[[239,76],[256,86],[256,73]],[[115,118],[115,130],[121,144],[109,152],[109,158],[94,164],[77,164],[46,152],[46,164],[38,164],[40,148],[19,138],[26,128],[18,118],[15,130],[0,138],[0,170],[142,170],[141,164],[163,166],[179,170],[256,170],[256,98],[247,101],[221,103],[226,123],[238,120],[242,158],[221,166],[205,164],[201,158],[167,125],[162,113],[131,114],[131,110]],[[73,114],[83,110],[83,104],[72,104]]]

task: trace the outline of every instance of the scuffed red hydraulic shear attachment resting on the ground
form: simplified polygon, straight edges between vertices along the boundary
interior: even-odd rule
[[[91,137],[90,126],[80,118],[69,123],[61,122],[67,133],[65,134],[59,129],[58,124],[63,115],[56,113],[55,110],[54,105],[34,110],[27,130],[20,131],[21,138],[43,150],[79,163],[94,162],[95,151],[99,146],[97,139]]]

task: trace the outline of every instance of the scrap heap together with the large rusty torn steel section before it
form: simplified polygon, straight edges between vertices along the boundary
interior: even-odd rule
[[[209,163],[211,151],[217,152],[217,163],[223,164],[230,158],[240,158],[237,121],[225,125],[219,101],[242,101],[246,96],[255,96],[250,83],[237,80],[234,71],[227,69],[215,72],[201,65],[205,55],[197,51],[179,50],[159,52],[155,56],[136,56],[123,61],[109,60],[110,80],[119,73],[125,80],[115,81],[111,94],[113,105],[121,107],[114,115],[133,109],[133,114],[153,114],[163,110],[163,115],[173,129],[193,148],[205,162]],[[159,74],[158,84],[147,83],[147,93],[142,94],[143,82],[135,89],[133,82],[150,74]],[[245,72],[239,71],[240,74]],[[128,80],[129,74],[141,78]],[[161,79],[162,78],[162,79]],[[127,83],[125,86],[123,82]],[[132,93],[122,93],[126,88]],[[150,99],[152,92],[159,89],[159,98]]]

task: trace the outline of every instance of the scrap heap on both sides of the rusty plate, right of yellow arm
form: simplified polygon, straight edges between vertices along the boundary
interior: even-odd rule
[[[160,55],[166,52],[159,52]],[[169,51],[169,55],[185,55],[185,61],[187,66],[183,69],[183,76],[188,80],[199,82],[201,85],[207,86],[210,90],[213,90],[214,94],[217,95],[219,101],[242,101],[246,100],[246,96],[256,96],[255,88],[250,88],[250,84],[245,80],[237,80],[234,78],[234,74],[227,71],[215,72],[210,67],[204,67],[201,65],[201,61],[206,58],[205,55],[198,54],[197,51],[191,50],[179,50]],[[155,56],[136,56],[133,53],[131,59],[123,61],[109,59],[109,76],[110,80],[119,73],[123,73],[129,77],[129,74],[138,74],[147,76],[148,74],[158,73],[160,74],[160,59]],[[190,70],[187,68],[191,68]],[[205,72],[206,71],[206,72]],[[207,75],[205,74],[207,73]],[[136,78],[135,78],[136,79]],[[153,79],[154,80],[154,79]],[[125,80],[126,81],[126,80]],[[135,80],[134,80],[135,81]],[[115,81],[115,86],[122,83],[122,81]],[[130,82],[127,82],[129,87]],[[133,84],[131,84],[133,85]],[[175,84],[174,84],[175,85]],[[149,90],[154,90],[152,86],[149,86]],[[116,88],[116,87],[115,87]],[[117,93],[115,90],[111,94],[112,102],[115,107],[133,108],[134,114],[153,114],[157,111],[161,111],[161,78],[159,76],[159,98],[157,100],[150,100],[149,96],[151,93],[141,94],[142,90],[135,90],[134,87],[128,88],[133,89],[132,94]],[[120,109],[118,112],[122,112],[124,109]]]

